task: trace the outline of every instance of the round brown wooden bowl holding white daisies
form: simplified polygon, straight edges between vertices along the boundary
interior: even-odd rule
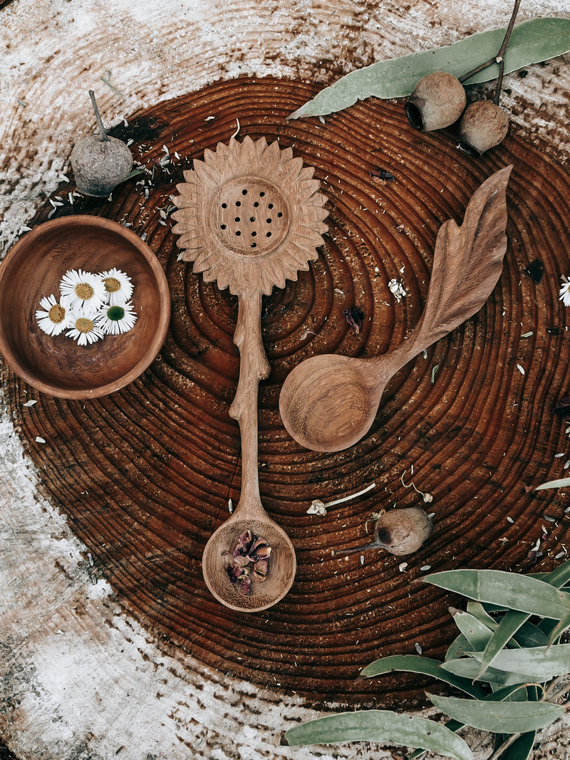
[[[137,321],[125,334],[79,346],[65,331],[52,337],[36,321],[43,296],[59,297],[68,269],[116,267],[131,277]],[[169,325],[166,277],[154,252],[116,222],[64,217],[40,224],[0,264],[0,353],[33,388],[60,398],[95,398],[117,391],[154,360]]]

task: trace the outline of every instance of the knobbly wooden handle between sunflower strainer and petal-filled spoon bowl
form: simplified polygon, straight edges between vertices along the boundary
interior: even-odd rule
[[[261,339],[261,291],[238,296],[233,342],[239,349],[239,381],[230,417],[237,420],[242,440],[242,492],[236,511],[241,510],[242,518],[253,518],[265,514],[258,478],[258,389],[270,366]]]

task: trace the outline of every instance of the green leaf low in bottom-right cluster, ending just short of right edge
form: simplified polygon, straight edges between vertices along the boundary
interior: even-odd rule
[[[564,712],[550,702],[486,702],[428,694],[436,708],[454,720],[494,733],[522,733],[544,728]]]

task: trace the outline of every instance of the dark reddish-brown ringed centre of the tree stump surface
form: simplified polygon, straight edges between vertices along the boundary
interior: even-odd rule
[[[551,568],[568,542],[565,492],[524,486],[562,477],[568,458],[552,409],[569,390],[558,287],[570,273],[570,183],[561,166],[516,135],[482,159],[465,157],[451,133],[413,131],[402,103],[366,101],[325,123],[286,122],[314,92],[299,81],[238,79],[128,119],[123,134],[135,140],[135,157],[155,169],[149,197],[135,181],[117,188],[112,201],[86,199],[74,211],[146,234],[173,298],[163,350],[137,381],[91,402],[37,394],[6,367],[3,382],[49,498],[68,515],[97,572],[159,638],[314,704],[401,705],[421,699],[420,680],[356,676],[380,655],[413,653],[417,642],[424,654],[441,656],[451,641],[447,606],[455,600],[413,583],[426,575],[421,568],[527,572],[538,539],[543,556],[534,567]],[[318,260],[264,299],[271,376],[260,387],[261,499],[292,538],[298,572],[281,603],[249,616],[220,606],[200,568],[228,499],[235,503],[240,492],[239,431],[228,416],[239,369],[236,297],[177,261],[168,216],[182,169],[227,142],[236,119],[239,138],[293,147],[315,166],[329,198]],[[160,169],[163,146],[169,163]],[[420,318],[439,226],[449,217],[461,221],[475,188],[509,163],[508,251],[489,302],[398,373],[365,439],[334,455],[300,448],[277,410],[287,373],[316,353],[376,356],[401,344]],[[375,179],[377,168],[394,179]],[[222,211],[214,214],[220,227]],[[525,273],[534,259],[543,264],[540,283]],[[391,280],[405,288],[400,301]],[[359,333],[344,317],[354,307],[364,315]],[[30,398],[38,403],[24,407]],[[36,435],[46,443],[35,443]],[[306,515],[312,499],[337,499],[372,482],[372,492],[325,518]],[[331,556],[333,547],[366,540],[372,511],[420,502],[411,482],[432,494],[435,530],[405,567],[377,551],[363,562],[359,554]]]

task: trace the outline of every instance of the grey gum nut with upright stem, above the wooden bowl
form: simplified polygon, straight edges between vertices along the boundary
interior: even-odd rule
[[[131,172],[132,154],[122,140],[89,135],[74,144],[71,168],[79,192],[109,195]]]

